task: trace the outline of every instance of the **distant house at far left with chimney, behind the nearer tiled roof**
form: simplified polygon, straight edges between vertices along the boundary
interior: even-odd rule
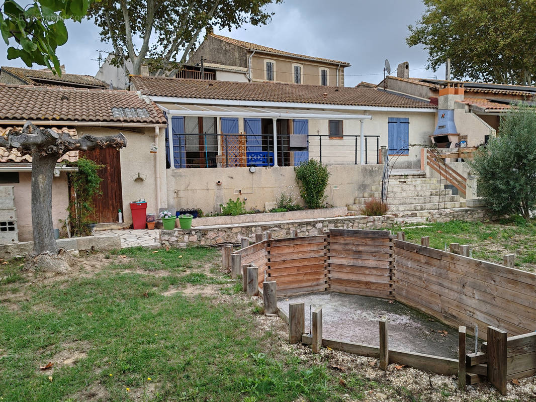
[[[62,86],[71,88],[108,88],[108,84],[93,78],[92,76],[65,73],[65,66],[62,66],[61,77],[54,74],[49,69],[32,70],[2,66],[2,68],[0,68],[0,83],[14,85]]]

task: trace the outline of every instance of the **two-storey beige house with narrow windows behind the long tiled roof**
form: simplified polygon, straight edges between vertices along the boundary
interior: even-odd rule
[[[290,53],[210,31],[189,57],[189,64],[201,61],[215,69],[241,69],[242,75],[236,71],[225,74],[221,71],[222,80],[243,81],[245,76],[250,82],[320,86],[344,86],[344,69],[350,66],[347,62]]]

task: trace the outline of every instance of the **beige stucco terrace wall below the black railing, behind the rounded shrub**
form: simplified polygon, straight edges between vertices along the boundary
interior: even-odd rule
[[[346,206],[379,183],[383,166],[343,165],[328,169],[331,176],[326,202]],[[219,205],[229,198],[246,198],[247,209],[263,211],[264,203],[275,201],[282,192],[293,193],[296,200],[301,200],[293,167],[258,167],[255,173],[248,168],[167,169],[166,173],[170,210],[200,208],[205,213],[219,212]],[[235,193],[237,190],[242,190],[242,195]]]

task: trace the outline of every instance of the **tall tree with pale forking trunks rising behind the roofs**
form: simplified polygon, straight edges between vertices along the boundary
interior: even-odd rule
[[[102,28],[103,42],[111,42],[115,57],[132,62],[131,74],[139,74],[147,56],[157,59],[152,70],[165,71],[182,65],[195,47],[202,30],[239,27],[245,23],[269,23],[270,3],[282,0],[101,0],[93,2],[90,16]],[[152,39],[152,41],[151,41]],[[137,44],[139,46],[137,46]],[[181,53],[178,63],[174,62]]]

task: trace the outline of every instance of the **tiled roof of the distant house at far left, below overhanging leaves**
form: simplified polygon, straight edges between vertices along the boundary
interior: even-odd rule
[[[20,69],[17,67],[2,66],[2,71],[17,77],[28,85],[54,85],[54,86],[83,86],[108,88],[108,84],[92,76],[79,74],[65,74],[60,76],[54,75],[47,70]],[[46,82],[43,82],[46,81]]]

